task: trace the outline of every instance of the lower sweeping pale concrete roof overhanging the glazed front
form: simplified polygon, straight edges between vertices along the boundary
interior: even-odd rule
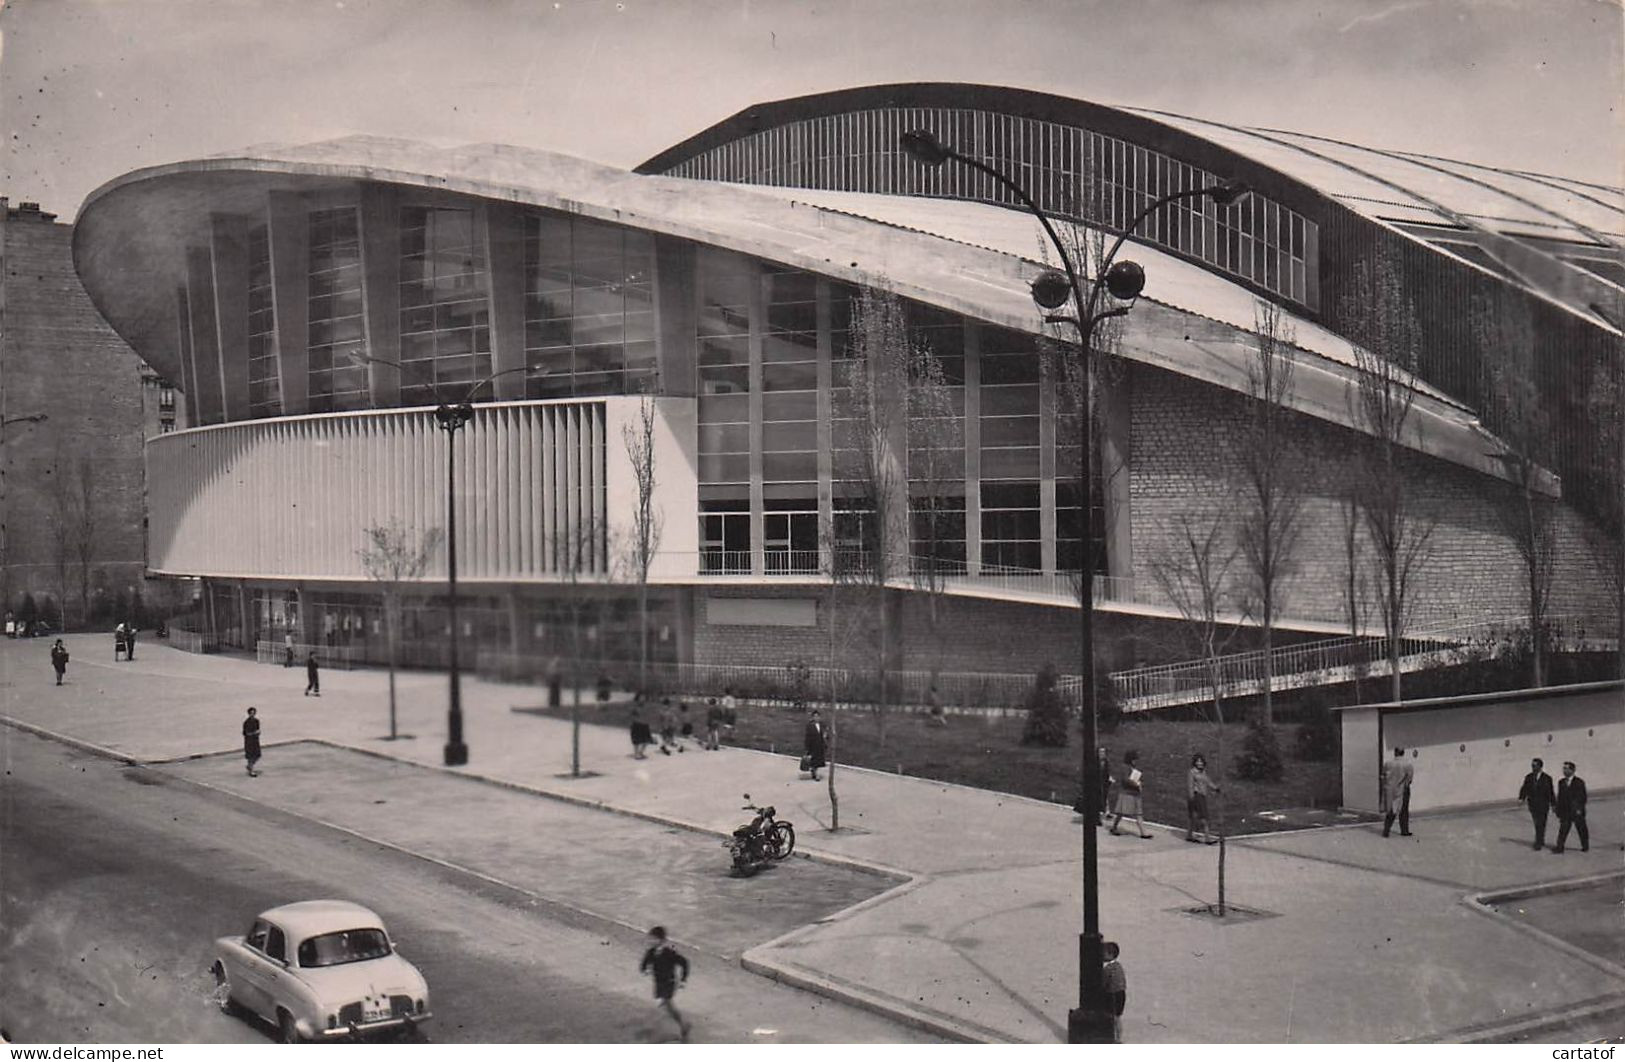
[[[1045,266],[1034,239],[1037,229],[1022,214],[894,196],[868,196],[868,203],[824,200],[632,174],[502,145],[436,148],[349,136],[135,171],[86,198],[73,232],[75,265],[112,326],[154,369],[179,380],[176,287],[184,283],[187,245],[206,240],[210,214],[263,211],[265,195],[273,190],[320,192],[361,180],[634,226],[886,287],[1004,328],[1043,331],[1027,286]],[[926,224],[933,231],[925,231]],[[1124,356],[1245,391],[1253,351],[1251,296],[1154,248],[1136,247],[1134,257],[1152,281],[1123,318]],[[1306,320],[1297,320],[1295,328],[1305,357],[1294,406],[1350,425],[1352,348]],[[1503,473],[1490,456],[1502,447],[1479,427],[1472,411],[1424,388],[1415,412],[1409,442],[1417,450],[1488,474]]]

